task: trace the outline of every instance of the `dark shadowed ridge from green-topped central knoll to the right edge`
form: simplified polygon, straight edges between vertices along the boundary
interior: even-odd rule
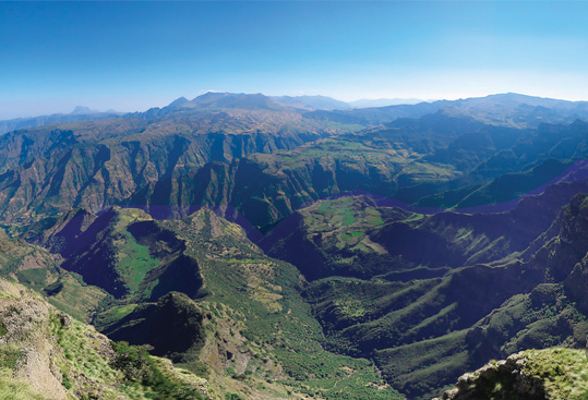
[[[365,195],[325,199],[277,225],[260,246],[309,280],[328,276],[410,280],[520,253],[588,180],[560,182],[499,214],[423,215]]]

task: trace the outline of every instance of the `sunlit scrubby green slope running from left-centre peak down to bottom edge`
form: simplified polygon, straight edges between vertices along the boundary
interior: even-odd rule
[[[200,216],[195,219],[200,220]],[[385,386],[369,361],[324,350],[322,328],[300,296],[299,272],[293,266],[260,257],[241,237],[229,233],[232,227],[229,222],[220,221],[212,214],[207,214],[206,221],[208,225],[200,230],[183,226],[185,222],[165,223],[181,231],[190,243],[192,255],[199,259],[211,292],[201,305],[217,318],[243,322],[240,334],[248,339],[250,352],[256,354],[254,360],[261,361],[250,362],[256,372],[250,377],[245,375],[244,379],[261,383],[271,378],[275,375],[271,365],[277,362],[285,374],[279,384],[296,392],[333,400],[401,398]],[[224,234],[214,237],[209,223],[216,223],[215,229]],[[206,250],[209,246],[215,249],[215,254],[225,252],[225,259],[209,257]],[[250,259],[255,263],[248,263]],[[269,393],[272,385],[264,384],[264,387],[259,390]],[[244,392],[239,395],[245,396]],[[283,395],[272,396],[279,398]]]

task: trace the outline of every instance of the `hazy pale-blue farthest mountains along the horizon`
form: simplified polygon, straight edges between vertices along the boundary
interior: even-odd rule
[[[257,97],[257,100],[254,100]],[[333,113],[317,112],[315,118],[326,118],[332,120],[355,120],[360,123],[385,123],[400,117],[422,117],[423,114],[436,110],[446,110],[449,114],[472,116],[481,120],[516,126],[527,124],[537,125],[540,122],[573,122],[576,118],[586,118],[586,101],[567,101],[551,98],[541,98],[518,95],[514,93],[503,95],[491,95],[480,98],[468,98],[459,100],[430,100],[423,101],[416,98],[381,98],[381,99],[359,99],[353,101],[341,101],[326,96],[263,96],[230,93],[208,92],[192,100],[180,97],[169,104],[166,108],[187,107],[211,108],[218,101],[218,108],[243,108],[252,109],[260,107],[255,101],[266,98],[262,102],[275,102],[283,107],[301,109],[307,111],[335,111]],[[214,98],[215,100],[208,100]],[[224,100],[220,100],[224,98]],[[237,98],[243,101],[239,105]],[[223,101],[226,104],[223,105]],[[274,104],[274,107],[279,107]],[[429,106],[428,106],[429,105]],[[410,107],[413,106],[413,107]],[[267,107],[267,105],[266,105]],[[340,112],[345,111],[345,112]],[[51,116],[17,118],[0,121],[0,134],[20,129],[37,128],[50,123],[65,123],[81,120],[106,119],[123,113],[113,110],[105,112],[92,110],[87,107],[77,106],[70,113],[56,113]],[[499,119],[496,119],[499,117]]]

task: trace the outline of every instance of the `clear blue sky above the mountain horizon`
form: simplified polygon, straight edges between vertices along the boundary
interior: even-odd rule
[[[0,2],[0,119],[207,90],[588,99],[588,3]]]

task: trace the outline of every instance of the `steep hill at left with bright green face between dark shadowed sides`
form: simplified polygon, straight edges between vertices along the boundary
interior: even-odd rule
[[[116,299],[157,300],[170,291],[195,296],[202,286],[183,242],[139,209],[115,207],[98,217],[68,213],[31,240],[58,252],[62,268]]]

